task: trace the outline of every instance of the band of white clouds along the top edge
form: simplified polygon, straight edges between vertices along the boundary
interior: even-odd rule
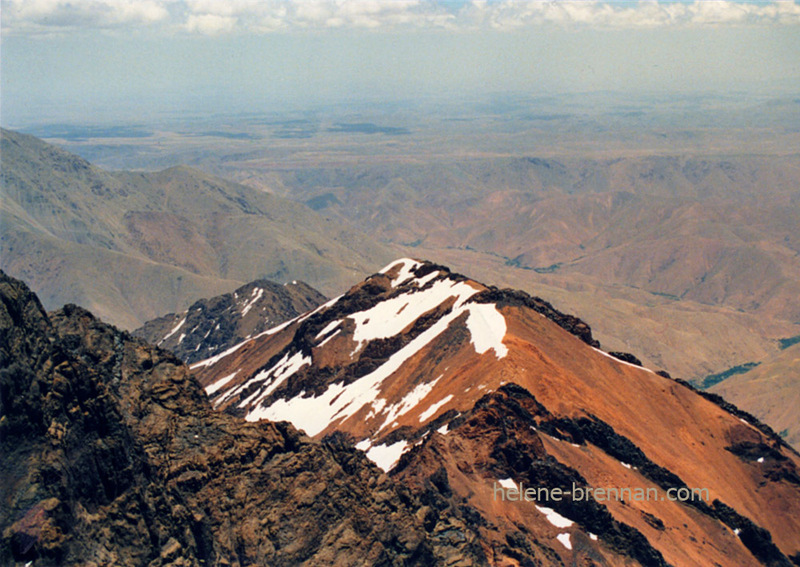
[[[0,0],[6,32],[164,26],[189,33],[299,29],[647,28],[800,25],[794,0]]]

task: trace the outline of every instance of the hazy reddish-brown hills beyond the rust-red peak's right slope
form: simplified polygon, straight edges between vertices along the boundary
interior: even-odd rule
[[[759,360],[800,334],[796,155],[320,161],[249,154],[215,171],[407,254],[546,295],[604,342],[686,379]]]

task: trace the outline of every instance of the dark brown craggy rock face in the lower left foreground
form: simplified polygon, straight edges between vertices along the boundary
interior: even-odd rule
[[[342,438],[213,412],[172,354],[0,278],[3,563],[486,563]]]

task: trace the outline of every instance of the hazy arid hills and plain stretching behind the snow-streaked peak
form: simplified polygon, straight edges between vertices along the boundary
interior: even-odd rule
[[[3,266],[48,307],[134,328],[258,277],[332,297],[408,255],[541,296],[699,385],[800,336],[798,124],[793,99],[603,95],[40,124],[28,130],[106,170],[37,150],[37,175],[95,204],[37,194],[50,208],[36,208],[19,200],[30,184],[17,190]]]

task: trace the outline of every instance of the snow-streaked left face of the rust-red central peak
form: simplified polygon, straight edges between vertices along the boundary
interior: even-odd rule
[[[222,380],[208,383],[207,391],[217,407],[243,410],[247,419],[302,414],[307,417],[301,427],[311,435],[330,432],[341,420],[366,419],[381,432],[392,428],[398,412],[389,393],[393,380],[386,380],[409,360],[448,345],[463,348],[464,356],[507,356],[505,318],[484,301],[493,297],[491,291],[443,266],[400,259],[286,326],[193,368],[201,380],[231,368]],[[240,365],[245,353],[247,368]],[[307,372],[312,363],[321,373]],[[431,378],[417,381],[415,396],[433,388],[438,379]],[[343,393],[350,384],[357,387]],[[411,399],[396,402],[412,404]]]

